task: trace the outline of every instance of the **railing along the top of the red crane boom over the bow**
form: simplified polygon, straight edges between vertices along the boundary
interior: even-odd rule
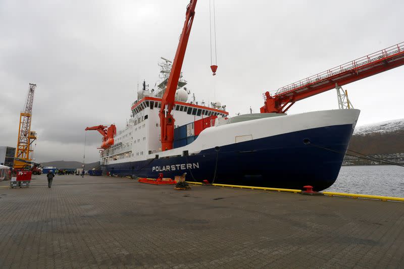
[[[391,57],[400,52],[404,52],[404,42],[387,47],[385,49],[371,53],[370,55],[364,56],[362,58],[348,62],[346,64],[331,68],[324,72],[318,73],[316,75],[310,76],[308,78],[305,78],[305,79],[296,81],[294,83],[291,83],[289,85],[286,85],[284,87],[281,87],[276,91],[274,96],[283,95],[285,92],[293,91],[294,89],[305,86],[307,84],[320,82],[321,80],[327,79],[331,76],[335,76],[337,74],[340,74],[340,73],[343,73],[343,72],[346,72],[349,70],[354,70],[357,68],[364,67],[370,63],[374,63],[374,62],[380,61],[384,58]]]

